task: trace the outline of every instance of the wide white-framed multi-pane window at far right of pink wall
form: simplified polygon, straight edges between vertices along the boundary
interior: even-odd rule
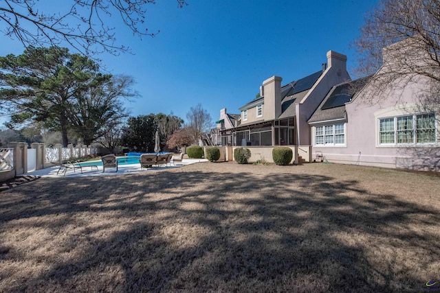
[[[380,144],[435,143],[434,113],[382,118]]]

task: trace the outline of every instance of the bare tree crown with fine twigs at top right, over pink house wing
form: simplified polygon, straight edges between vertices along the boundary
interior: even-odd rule
[[[412,41],[398,42],[408,38]],[[382,49],[388,47],[386,54],[394,54],[393,60],[399,63],[395,67],[399,70],[388,78],[417,74],[440,82],[440,0],[381,0],[366,16],[355,45],[360,76],[377,73],[384,66]],[[385,84],[388,78],[384,78]]]

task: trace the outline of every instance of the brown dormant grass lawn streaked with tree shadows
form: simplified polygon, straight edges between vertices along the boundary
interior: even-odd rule
[[[417,292],[440,178],[199,163],[0,193],[0,292]],[[440,282],[439,282],[440,283]]]

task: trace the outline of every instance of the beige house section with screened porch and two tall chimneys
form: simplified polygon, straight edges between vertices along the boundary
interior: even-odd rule
[[[328,64],[328,67],[327,67]],[[307,120],[335,84],[350,80],[347,56],[327,52],[322,70],[281,85],[276,75],[263,81],[260,95],[242,106],[240,117],[221,112],[222,142],[233,146],[311,145]],[[224,125],[223,125],[224,124]]]

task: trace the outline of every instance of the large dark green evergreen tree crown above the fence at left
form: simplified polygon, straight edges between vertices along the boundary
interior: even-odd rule
[[[101,137],[102,126],[126,116],[121,100],[135,96],[133,80],[102,74],[99,66],[59,47],[28,47],[20,56],[0,57],[0,101],[11,114],[10,127],[40,123],[78,132],[84,143]]]

